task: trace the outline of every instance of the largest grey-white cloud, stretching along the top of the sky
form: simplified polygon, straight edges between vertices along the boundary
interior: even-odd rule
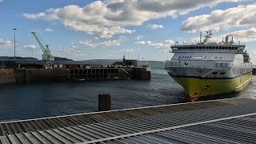
[[[246,0],[106,0],[91,2],[86,6],[69,5],[52,8],[38,14],[23,14],[30,19],[43,19],[62,24],[75,31],[98,34],[101,38],[112,38],[116,34],[131,34],[135,30],[126,26],[141,26],[155,18],[177,17],[205,6],[216,6],[220,2],[242,2]]]

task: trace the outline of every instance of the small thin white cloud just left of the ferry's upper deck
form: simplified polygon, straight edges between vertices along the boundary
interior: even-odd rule
[[[135,44],[149,45],[149,46],[154,46],[158,48],[170,48],[170,46],[174,44],[174,41],[172,39],[168,39],[164,42],[140,41],[140,42],[135,42]]]

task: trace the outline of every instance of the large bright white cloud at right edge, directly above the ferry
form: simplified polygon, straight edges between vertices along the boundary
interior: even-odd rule
[[[203,14],[187,18],[182,22],[182,30],[228,30],[233,27],[255,26],[256,4],[233,7],[227,10],[214,10],[210,14]]]

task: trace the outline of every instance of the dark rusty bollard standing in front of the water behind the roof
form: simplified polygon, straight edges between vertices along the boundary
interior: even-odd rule
[[[98,111],[111,110],[111,94],[98,94]]]

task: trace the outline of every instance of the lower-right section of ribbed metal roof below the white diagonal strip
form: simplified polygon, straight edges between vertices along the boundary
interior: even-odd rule
[[[146,134],[113,138],[99,143],[255,143],[256,114],[170,127]],[[89,142],[90,143],[90,142]]]

